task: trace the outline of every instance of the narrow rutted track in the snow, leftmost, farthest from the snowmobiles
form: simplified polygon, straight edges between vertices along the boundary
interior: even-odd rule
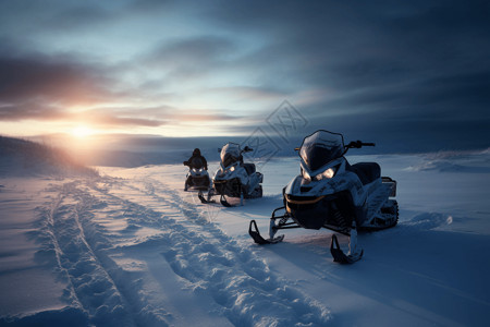
[[[126,301],[87,241],[81,221],[87,204],[76,194],[74,183],[64,184],[59,192],[45,210],[45,231],[50,238],[59,269],[69,281],[70,289],[65,295],[88,315],[93,324],[121,319],[126,322],[124,325],[134,325],[127,314]]]

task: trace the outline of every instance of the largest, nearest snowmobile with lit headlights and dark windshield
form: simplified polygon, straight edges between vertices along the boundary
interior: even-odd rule
[[[375,146],[362,141],[344,145],[342,134],[317,131],[306,136],[295,150],[301,157],[301,174],[283,189],[283,206],[273,210],[269,239],[260,235],[250,220],[249,235],[258,244],[281,242],[278,230],[327,228],[348,237],[348,253],[332,235],[330,252],[333,261],[352,264],[362,258],[357,231],[375,231],[394,227],[399,220],[396,181],[381,177],[377,162],[350,165],[344,155],[351,148]]]

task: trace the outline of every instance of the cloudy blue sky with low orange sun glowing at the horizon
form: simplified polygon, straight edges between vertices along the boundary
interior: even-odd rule
[[[488,1],[0,0],[0,134],[486,148],[489,17]]]

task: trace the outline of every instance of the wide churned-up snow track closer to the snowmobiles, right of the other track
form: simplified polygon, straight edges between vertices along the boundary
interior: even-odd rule
[[[139,192],[170,204],[185,221],[166,218],[163,256],[194,292],[211,295],[235,326],[324,326],[329,311],[274,276],[267,264],[223,233],[176,192],[149,178]],[[136,182],[128,185],[138,190]],[[148,203],[150,204],[150,203]]]

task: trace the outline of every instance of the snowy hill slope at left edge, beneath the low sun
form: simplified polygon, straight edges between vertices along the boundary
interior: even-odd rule
[[[97,175],[65,152],[21,138],[0,136],[0,177]]]

